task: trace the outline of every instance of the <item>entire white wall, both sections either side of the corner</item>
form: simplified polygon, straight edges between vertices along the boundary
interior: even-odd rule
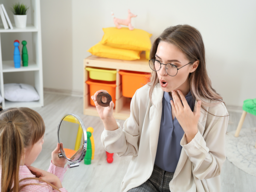
[[[253,0],[41,0],[44,87],[82,91],[87,50],[101,40],[103,27],[114,26],[111,11],[126,18],[127,9],[138,15],[135,28],[153,34],[151,41],[168,26],[195,26],[204,38],[212,86],[226,104],[242,106],[256,97]]]

